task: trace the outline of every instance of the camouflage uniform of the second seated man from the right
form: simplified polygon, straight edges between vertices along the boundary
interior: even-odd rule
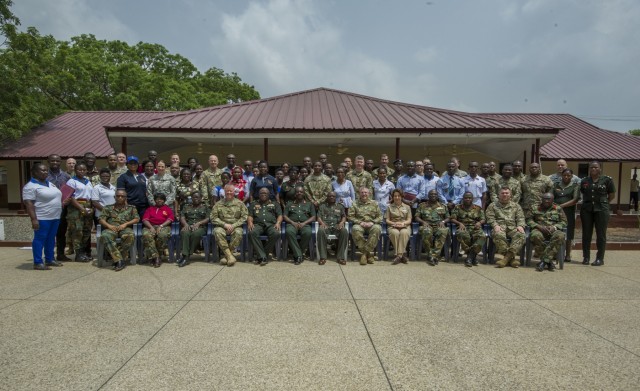
[[[498,254],[505,255],[511,253],[515,257],[520,252],[524,245],[525,235],[523,232],[518,232],[516,228],[524,228],[524,212],[520,205],[513,201],[509,201],[508,204],[502,205],[502,203],[495,202],[487,208],[485,212],[487,223],[491,228],[495,228],[497,225],[502,228],[499,233],[493,229],[491,233],[491,239],[495,243],[496,252]],[[511,238],[511,244],[507,243],[507,237]]]

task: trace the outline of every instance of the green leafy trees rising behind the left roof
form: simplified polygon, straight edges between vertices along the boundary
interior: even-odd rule
[[[237,74],[201,73],[162,45],[19,32],[10,5],[0,0],[0,144],[69,110],[182,111],[260,98]]]

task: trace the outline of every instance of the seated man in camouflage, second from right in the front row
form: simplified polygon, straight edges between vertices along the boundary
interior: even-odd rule
[[[491,239],[495,243],[496,252],[504,258],[496,262],[496,267],[519,267],[520,261],[515,259],[524,245],[524,212],[520,205],[511,201],[511,189],[504,186],[500,189],[498,202],[493,202],[485,212],[487,223],[491,226]],[[507,242],[511,239],[511,243]]]

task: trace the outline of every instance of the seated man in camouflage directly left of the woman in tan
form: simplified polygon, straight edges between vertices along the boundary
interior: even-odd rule
[[[353,223],[351,236],[356,246],[362,252],[360,264],[374,263],[374,252],[378,247],[380,234],[382,233],[382,212],[375,200],[369,199],[370,190],[366,186],[358,189],[360,198],[349,208],[349,221]],[[364,235],[369,237],[365,240]]]

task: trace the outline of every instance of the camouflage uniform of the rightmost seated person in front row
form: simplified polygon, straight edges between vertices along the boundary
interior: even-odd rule
[[[542,254],[540,260],[545,263],[551,262],[564,242],[564,232],[562,230],[567,227],[567,217],[562,208],[552,204],[551,207],[545,210],[540,205],[527,216],[527,225],[531,228],[531,234],[529,234],[531,244],[533,244],[537,254]],[[550,235],[544,234],[537,228],[538,225],[554,226],[556,230]],[[549,240],[549,245],[544,244],[545,240]]]

